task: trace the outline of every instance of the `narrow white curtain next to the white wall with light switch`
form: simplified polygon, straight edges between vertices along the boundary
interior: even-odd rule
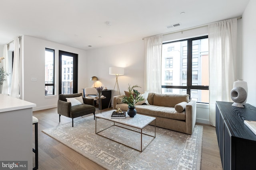
[[[12,67],[11,96],[20,98],[20,43],[19,37],[14,39],[14,59]]]

